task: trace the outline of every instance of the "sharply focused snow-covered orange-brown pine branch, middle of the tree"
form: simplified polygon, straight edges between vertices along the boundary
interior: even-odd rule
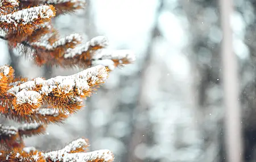
[[[4,73],[8,74],[6,70],[0,74]],[[108,69],[102,65],[71,76],[58,76],[49,80],[35,78],[13,86],[7,91],[2,90],[3,93],[6,92],[2,97],[9,97],[9,103],[6,104],[10,106],[7,109],[2,108],[2,113],[12,114],[10,118],[19,115],[20,118],[26,118],[27,115],[35,114],[42,105],[51,106],[59,112],[75,113],[82,106],[82,98],[90,97],[95,88],[103,84],[106,78],[108,78]],[[6,84],[7,88],[7,83],[3,82],[3,84]]]

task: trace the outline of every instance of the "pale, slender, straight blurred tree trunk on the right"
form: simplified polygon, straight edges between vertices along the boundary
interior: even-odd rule
[[[233,1],[220,0],[221,23],[222,23],[222,73],[224,86],[225,104],[225,143],[227,160],[229,162],[242,161],[242,134],[240,118],[237,56],[233,52],[233,31],[230,25],[233,14]]]

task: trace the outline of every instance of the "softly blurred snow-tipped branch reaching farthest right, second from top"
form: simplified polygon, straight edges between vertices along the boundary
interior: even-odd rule
[[[51,27],[40,28],[36,31],[40,32],[40,35],[44,35],[40,40],[36,40],[39,37],[31,36],[31,38],[34,38],[31,43],[29,41],[21,42],[25,47],[35,50],[33,57],[38,65],[60,65],[64,68],[73,66],[88,68],[104,65],[113,70],[115,67],[131,64],[135,60],[134,53],[130,50],[104,49],[109,44],[105,36],[97,36],[87,41],[86,44],[79,45],[81,37],[78,34],[56,40],[57,33],[55,34],[53,31],[52,34],[47,34],[49,31],[46,28]],[[0,38],[8,40],[3,36],[0,36]]]

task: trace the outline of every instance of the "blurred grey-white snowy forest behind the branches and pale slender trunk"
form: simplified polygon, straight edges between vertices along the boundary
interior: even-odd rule
[[[238,58],[243,161],[256,161],[256,1],[234,0],[233,50]],[[105,35],[112,49],[137,60],[115,69],[86,107],[28,146],[56,149],[84,136],[90,150],[115,161],[225,161],[221,19],[216,0],[88,0],[85,10],[54,19],[61,35]],[[17,76],[81,71],[36,67],[0,41],[0,65]],[[3,120],[3,119],[2,119]],[[6,121],[7,122],[7,121]]]

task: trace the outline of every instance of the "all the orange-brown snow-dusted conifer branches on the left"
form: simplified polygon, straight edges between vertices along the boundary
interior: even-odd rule
[[[82,99],[104,84],[111,70],[135,60],[128,50],[106,49],[104,36],[86,43],[79,34],[60,38],[51,19],[85,5],[83,0],[0,1],[0,38],[11,48],[39,66],[85,69],[71,76],[29,80],[15,78],[9,65],[0,67],[0,114],[19,123],[18,127],[0,124],[0,161],[113,161],[108,149],[86,152],[89,143],[84,138],[57,151],[39,151],[23,142],[26,137],[44,134],[47,124],[63,123],[81,109]]]

